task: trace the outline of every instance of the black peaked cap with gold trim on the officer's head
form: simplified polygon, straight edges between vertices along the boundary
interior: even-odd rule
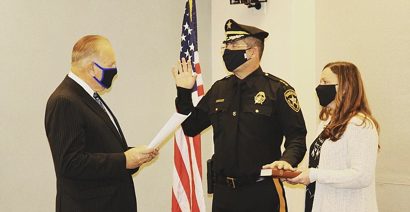
[[[256,37],[263,42],[269,35],[268,32],[256,27],[238,24],[232,19],[229,19],[225,24],[225,33],[226,38],[223,40],[222,44],[230,43],[249,36]]]

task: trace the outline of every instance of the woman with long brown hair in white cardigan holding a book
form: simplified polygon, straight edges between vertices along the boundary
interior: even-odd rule
[[[316,93],[322,122],[311,145],[309,168],[299,168],[298,177],[282,181],[307,185],[305,211],[378,211],[379,125],[359,70],[350,62],[327,64]]]

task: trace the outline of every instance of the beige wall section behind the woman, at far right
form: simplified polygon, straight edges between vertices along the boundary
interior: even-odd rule
[[[316,1],[316,71],[353,62],[380,124],[376,193],[380,211],[408,211],[410,195],[410,2]]]

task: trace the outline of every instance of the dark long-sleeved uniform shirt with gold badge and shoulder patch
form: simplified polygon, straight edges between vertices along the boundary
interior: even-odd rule
[[[230,75],[216,81],[197,107],[190,89],[177,91],[178,112],[192,112],[182,123],[186,135],[213,126],[213,171],[218,175],[258,176],[262,165],[284,160],[296,166],[303,159],[306,127],[296,93],[260,67],[243,80]]]

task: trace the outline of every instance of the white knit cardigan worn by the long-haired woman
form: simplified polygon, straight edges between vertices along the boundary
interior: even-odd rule
[[[319,135],[329,120],[319,125]],[[318,168],[310,168],[310,181],[316,181],[312,212],[378,211],[375,169],[378,133],[371,120],[361,125],[355,116],[336,142],[325,140]]]

